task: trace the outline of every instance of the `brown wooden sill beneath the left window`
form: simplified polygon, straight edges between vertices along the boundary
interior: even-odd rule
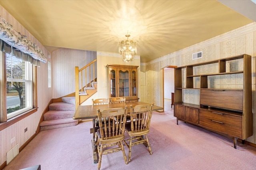
[[[14,123],[17,123],[18,121],[24,119],[25,117],[28,117],[29,115],[32,115],[37,111],[37,108],[30,109],[29,111],[26,111],[20,115],[17,115],[15,117],[12,117],[7,120],[7,122],[0,123],[0,131],[4,130],[5,128],[13,125]]]

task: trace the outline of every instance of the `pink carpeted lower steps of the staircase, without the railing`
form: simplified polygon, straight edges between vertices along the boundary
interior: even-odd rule
[[[78,120],[73,120],[75,97],[62,97],[62,101],[49,105],[49,111],[43,115],[44,121],[40,123],[41,131],[78,125]]]

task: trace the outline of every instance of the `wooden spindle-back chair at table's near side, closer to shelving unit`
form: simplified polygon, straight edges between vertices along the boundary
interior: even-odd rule
[[[125,125],[125,131],[130,136],[128,140],[125,140],[125,144],[129,148],[129,162],[131,161],[132,146],[137,144],[145,144],[148,147],[149,153],[152,154],[147,134],[149,132],[153,107],[153,103],[151,105],[137,105],[134,108],[130,106],[131,121]],[[129,145],[126,142],[129,142]]]

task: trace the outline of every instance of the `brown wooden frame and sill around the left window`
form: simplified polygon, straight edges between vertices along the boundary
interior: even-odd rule
[[[7,119],[6,86],[4,85],[6,84],[6,59],[2,51],[0,51],[0,65],[0,82],[2,83],[0,88],[0,97],[2,99],[2,102],[0,102],[0,108],[2,108],[0,109],[0,130],[3,130],[37,111],[37,67],[32,65],[32,109]]]

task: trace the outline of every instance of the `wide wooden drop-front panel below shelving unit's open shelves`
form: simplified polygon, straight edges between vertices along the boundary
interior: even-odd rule
[[[243,110],[243,90],[201,89],[200,104],[232,110]]]

